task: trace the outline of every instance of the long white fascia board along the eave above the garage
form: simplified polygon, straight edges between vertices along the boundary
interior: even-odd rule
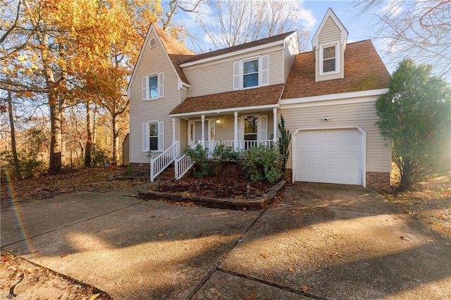
[[[303,98],[292,98],[292,99],[282,99],[280,100],[280,106],[288,106],[288,105],[303,105],[305,107],[309,106],[321,106],[321,102],[327,102],[323,105],[330,105],[332,102],[343,102],[346,103],[354,102],[369,102],[375,101],[375,96],[380,96],[381,94],[385,94],[388,92],[388,89],[369,89],[367,91],[361,92],[347,92],[340,94],[327,94],[321,96],[310,96]],[[338,103],[340,104],[340,103]]]

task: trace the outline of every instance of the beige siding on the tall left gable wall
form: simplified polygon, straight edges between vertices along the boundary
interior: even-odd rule
[[[142,123],[164,121],[165,149],[172,144],[173,123],[169,112],[178,105],[178,76],[168,60],[159,38],[150,32],[150,38],[156,38],[154,48],[144,45],[141,61],[135,70],[135,77],[130,83],[130,162],[149,163],[147,153],[142,151]],[[142,101],[142,77],[164,73],[164,97]],[[178,131],[178,130],[176,130]]]

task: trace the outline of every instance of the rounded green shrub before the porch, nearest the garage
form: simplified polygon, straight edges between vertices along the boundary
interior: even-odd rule
[[[283,157],[278,149],[268,146],[250,147],[241,161],[252,181],[275,182],[282,177]]]

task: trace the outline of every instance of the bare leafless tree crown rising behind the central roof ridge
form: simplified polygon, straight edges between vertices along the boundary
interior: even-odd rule
[[[252,42],[264,37],[297,30],[300,44],[309,39],[305,27],[298,23],[299,4],[296,1],[211,1],[211,15],[199,16],[204,35],[215,49]]]

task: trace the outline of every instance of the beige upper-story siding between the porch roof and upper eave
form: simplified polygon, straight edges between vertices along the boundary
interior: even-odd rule
[[[233,91],[233,63],[241,59],[256,56],[269,56],[269,85],[282,83],[282,45],[273,46],[264,51],[252,51],[247,54],[231,56],[183,68],[190,88],[189,97],[204,96]]]

